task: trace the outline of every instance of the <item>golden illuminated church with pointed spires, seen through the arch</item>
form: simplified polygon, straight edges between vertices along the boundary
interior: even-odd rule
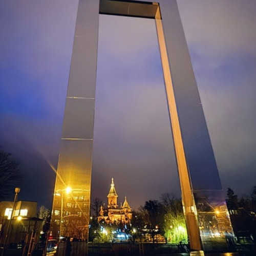
[[[130,207],[125,197],[123,204],[120,207],[117,204],[118,195],[116,193],[114,179],[112,178],[111,187],[108,195],[108,209],[100,207],[98,222],[105,221],[106,223],[122,223],[127,224],[132,219],[132,208]]]

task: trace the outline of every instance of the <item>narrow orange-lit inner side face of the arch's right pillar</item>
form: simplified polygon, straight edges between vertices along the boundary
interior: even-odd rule
[[[182,192],[182,200],[184,205],[184,213],[186,218],[186,225],[188,231],[188,237],[191,248],[201,250],[200,233],[197,223],[197,213],[195,211],[195,201],[192,194],[191,183],[189,179],[188,169],[186,165],[185,153],[183,148],[176,100],[174,95],[172,76],[170,74],[169,62],[166,52],[163,26],[160,14],[160,8],[158,7],[156,14],[156,28],[158,35],[158,42],[160,48],[160,55],[162,60],[163,75],[165,82],[165,89],[168,101],[168,110],[171,118],[171,125],[173,130],[173,138],[175,145],[175,152],[178,164],[178,172],[180,177],[180,185]]]

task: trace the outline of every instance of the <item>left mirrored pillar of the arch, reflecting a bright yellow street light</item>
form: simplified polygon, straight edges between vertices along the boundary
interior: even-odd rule
[[[80,0],[54,190],[54,237],[88,241],[99,1]]]

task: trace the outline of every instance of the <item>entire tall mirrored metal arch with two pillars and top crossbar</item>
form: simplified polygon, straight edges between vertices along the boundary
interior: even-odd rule
[[[190,247],[212,250],[212,242],[218,240],[222,249],[227,248],[226,234],[232,238],[232,227],[175,0],[79,0],[55,182],[53,234],[69,234],[63,223],[69,220],[71,225],[74,220],[88,240],[99,14],[156,20]]]

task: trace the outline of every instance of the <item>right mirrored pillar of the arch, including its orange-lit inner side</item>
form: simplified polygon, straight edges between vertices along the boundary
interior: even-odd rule
[[[229,251],[233,230],[178,6],[159,5],[156,27],[190,246]]]

